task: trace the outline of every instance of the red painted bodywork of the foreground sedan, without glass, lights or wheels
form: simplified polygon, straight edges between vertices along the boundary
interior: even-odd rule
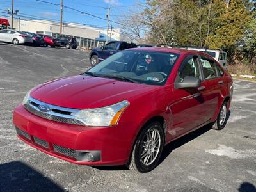
[[[138,48],[131,49],[137,50]],[[129,161],[138,132],[152,118],[159,116],[166,122],[165,144],[188,132],[214,122],[221,104],[232,98],[232,77],[224,69],[222,77],[204,80],[205,90],[187,92],[175,89],[174,82],[184,58],[191,54],[210,56],[195,51],[168,48],[140,48],[145,51],[161,51],[179,54],[168,81],[164,86],[136,84],[115,79],[90,76],[72,76],[57,79],[33,88],[31,97],[42,102],[74,109],[92,109],[128,100],[117,125],[113,127],[90,127],[47,120],[29,113],[22,104],[13,112],[15,127],[29,133],[31,140],[19,138],[47,154],[77,164],[125,164]],[[212,59],[213,60],[213,59]],[[223,81],[222,84],[218,84]],[[200,97],[193,97],[199,94]],[[34,136],[49,142],[44,148],[34,141]],[[52,143],[73,150],[100,150],[100,161],[76,161],[72,157],[54,152]]]

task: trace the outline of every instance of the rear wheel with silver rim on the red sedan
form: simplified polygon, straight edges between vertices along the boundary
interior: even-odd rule
[[[227,124],[227,119],[228,119],[227,106],[228,106],[227,102],[223,102],[223,104],[220,108],[220,113],[219,113],[216,121],[212,125],[212,129],[221,130]]]

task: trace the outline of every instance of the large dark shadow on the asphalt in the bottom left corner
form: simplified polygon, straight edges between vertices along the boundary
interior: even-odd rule
[[[0,191],[64,191],[58,184],[28,164],[12,161],[0,164]]]

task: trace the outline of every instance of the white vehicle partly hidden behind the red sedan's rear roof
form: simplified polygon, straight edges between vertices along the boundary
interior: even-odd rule
[[[227,52],[225,52],[225,51],[220,51],[220,50],[216,50],[216,49],[206,49],[205,50],[204,48],[197,48],[197,47],[184,47],[184,49],[205,52],[205,53],[211,55],[212,58],[214,58],[216,61],[218,61],[223,67],[227,68],[228,57],[227,57]]]

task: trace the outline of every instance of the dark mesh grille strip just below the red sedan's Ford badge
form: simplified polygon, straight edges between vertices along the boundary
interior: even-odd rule
[[[53,120],[56,122],[61,122],[65,124],[75,124],[75,125],[84,125],[82,122],[76,119],[72,118],[65,118],[61,116],[54,116],[48,113],[44,113],[42,111],[37,111],[36,109],[32,108],[29,104],[24,105],[24,107],[30,112],[33,113],[34,115],[41,116],[42,118],[47,118],[49,120]]]

